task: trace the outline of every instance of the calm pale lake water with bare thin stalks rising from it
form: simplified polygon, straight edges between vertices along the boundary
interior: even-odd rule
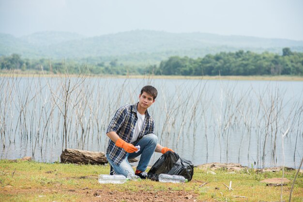
[[[1,159],[54,162],[64,148],[104,152],[115,111],[138,101],[145,85],[158,89],[149,112],[159,143],[194,165],[299,166],[303,82],[148,77],[71,78],[70,84],[68,78],[0,77]]]

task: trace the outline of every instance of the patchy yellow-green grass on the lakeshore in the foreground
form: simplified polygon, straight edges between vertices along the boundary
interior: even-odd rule
[[[256,173],[253,170],[242,170],[230,174],[224,169],[215,172],[217,174],[213,175],[195,168],[193,180],[185,184],[142,180],[128,181],[121,185],[100,185],[98,174],[109,173],[108,165],[0,160],[0,201],[97,201],[100,199],[97,198],[98,194],[102,193],[109,193],[109,196],[119,193],[116,194],[118,201],[129,201],[123,195],[133,194],[140,197],[140,193],[164,193],[169,196],[181,192],[193,194],[197,201],[280,201],[281,187],[266,186],[260,181],[282,177],[282,172]],[[292,181],[295,173],[296,171],[286,171],[285,177]],[[232,191],[223,185],[228,186],[230,181]],[[208,184],[200,187],[204,182]],[[288,201],[290,188],[291,183],[283,186],[283,201]],[[106,201],[106,198],[103,200]],[[303,201],[303,173],[299,173],[295,182],[292,201]]]

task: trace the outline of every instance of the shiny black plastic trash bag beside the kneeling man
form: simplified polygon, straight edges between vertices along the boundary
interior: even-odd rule
[[[194,165],[191,161],[180,158],[177,153],[168,151],[153,164],[148,178],[159,181],[161,173],[181,175],[189,182],[194,175]]]

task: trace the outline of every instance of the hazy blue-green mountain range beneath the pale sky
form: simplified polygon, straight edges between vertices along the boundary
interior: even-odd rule
[[[155,62],[169,56],[204,57],[218,52],[250,50],[282,53],[282,48],[303,52],[303,41],[224,36],[208,33],[168,33],[134,30],[86,37],[69,32],[37,32],[15,37],[0,33],[0,56],[13,53],[22,58],[91,59],[113,58],[129,62]]]

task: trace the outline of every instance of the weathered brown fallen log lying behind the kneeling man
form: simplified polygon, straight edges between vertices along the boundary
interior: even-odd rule
[[[108,163],[104,152],[93,152],[80,149],[65,149],[60,156],[61,163],[102,164]],[[129,159],[136,162],[137,159]]]

